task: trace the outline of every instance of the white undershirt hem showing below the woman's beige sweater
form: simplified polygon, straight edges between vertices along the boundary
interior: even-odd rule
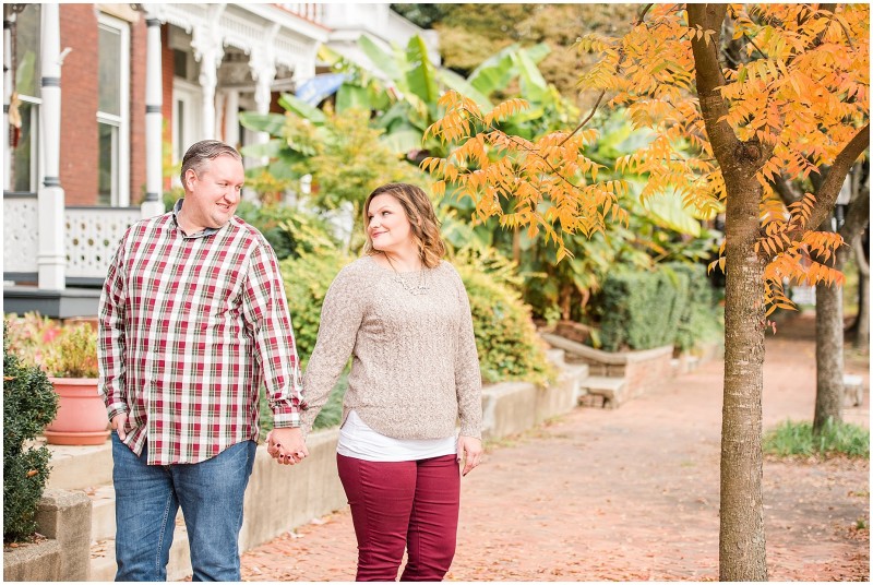
[[[351,410],[339,429],[336,452],[346,457],[375,462],[418,461],[457,453],[457,438],[394,439],[371,429]]]

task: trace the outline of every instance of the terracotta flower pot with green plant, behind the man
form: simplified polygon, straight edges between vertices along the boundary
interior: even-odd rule
[[[96,378],[49,378],[58,393],[58,415],[46,427],[53,445],[101,445],[109,438],[106,406]]]

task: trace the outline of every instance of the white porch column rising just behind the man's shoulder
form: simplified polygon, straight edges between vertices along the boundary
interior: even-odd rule
[[[145,200],[140,206],[143,217],[164,213],[162,193],[163,116],[164,87],[160,60],[160,21],[152,14],[145,19],[146,71],[145,71]]]

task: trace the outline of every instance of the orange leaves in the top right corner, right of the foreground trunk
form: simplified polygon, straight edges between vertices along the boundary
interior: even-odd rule
[[[758,172],[808,177],[870,117],[870,5],[732,4],[733,39],[752,59],[721,87],[740,140],[773,146]]]

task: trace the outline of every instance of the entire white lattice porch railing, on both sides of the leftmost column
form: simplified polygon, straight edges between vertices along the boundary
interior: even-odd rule
[[[68,207],[64,246],[68,278],[104,278],[124,230],[142,217],[139,207]],[[3,196],[3,272],[38,272],[36,196]]]

